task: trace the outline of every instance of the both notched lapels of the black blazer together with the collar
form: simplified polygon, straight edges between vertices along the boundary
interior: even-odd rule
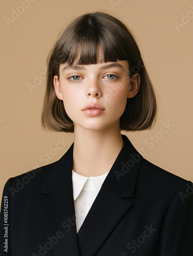
[[[72,187],[74,144],[54,164],[38,204],[48,236],[57,238],[53,245],[56,256],[93,256],[131,207],[132,203],[124,198],[134,196],[143,158],[126,136],[122,138],[122,150],[78,233]]]

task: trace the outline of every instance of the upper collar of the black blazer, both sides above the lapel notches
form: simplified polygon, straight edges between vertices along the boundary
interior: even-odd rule
[[[125,135],[121,136],[124,145],[104,180],[103,186],[119,197],[133,197],[143,157]],[[72,182],[73,147],[74,143],[67,153],[54,164],[41,189],[42,193],[51,194],[65,183]]]

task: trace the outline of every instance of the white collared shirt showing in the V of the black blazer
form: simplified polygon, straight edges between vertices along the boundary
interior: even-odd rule
[[[85,217],[87,216],[99,190],[104,182],[105,173],[96,177],[85,177],[72,170],[73,197],[76,215],[76,231],[80,229]]]

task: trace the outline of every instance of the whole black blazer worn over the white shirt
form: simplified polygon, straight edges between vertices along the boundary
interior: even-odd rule
[[[149,163],[122,137],[123,148],[78,233],[73,144],[57,162],[9,179],[0,254],[192,256],[193,184]]]

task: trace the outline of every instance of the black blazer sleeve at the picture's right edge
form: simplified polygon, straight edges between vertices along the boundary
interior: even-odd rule
[[[158,256],[193,255],[193,184],[183,183],[164,218]]]

